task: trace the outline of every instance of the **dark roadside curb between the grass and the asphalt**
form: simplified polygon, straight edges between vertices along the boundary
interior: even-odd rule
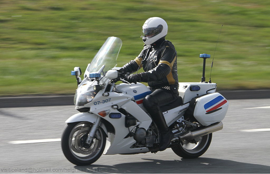
[[[270,98],[270,90],[217,91],[226,99]],[[73,95],[2,97],[0,108],[74,105]]]

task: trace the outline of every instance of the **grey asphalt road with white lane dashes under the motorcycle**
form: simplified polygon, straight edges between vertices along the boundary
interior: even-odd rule
[[[102,155],[89,166],[68,162],[59,141],[10,143],[61,138],[65,120],[78,113],[74,106],[0,108],[0,173],[269,173],[270,99],[229,103],[223,130],[213,133],[200,158],[183,159],[167,149],[156,154]]]

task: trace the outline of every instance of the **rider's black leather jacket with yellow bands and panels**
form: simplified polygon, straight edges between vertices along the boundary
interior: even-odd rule
[[[151,45],[144,45],[136,59],[123,66],[125,73],[143,68],[142,82],[152,88],[171,86],[178,89],[177,52],[174,45],[164,38]],[[174,90],[173,90],[174,91]]]

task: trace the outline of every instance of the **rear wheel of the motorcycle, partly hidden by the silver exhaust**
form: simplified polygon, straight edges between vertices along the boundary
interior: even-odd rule
[[[198,158],[207,151],[211,140],[212,133],[190,141],[181,140],[179,144],[172,147],[172,151],[182,158]]]

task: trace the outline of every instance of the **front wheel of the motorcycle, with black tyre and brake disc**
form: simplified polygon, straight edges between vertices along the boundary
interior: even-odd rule
[[[98,128],[91,144],[85,140],[91,130],[92,123],[68,123],[62,134],[61,147],[68,161],[75,165],[90,165],[102,155],[106,144],[106,135]]]

